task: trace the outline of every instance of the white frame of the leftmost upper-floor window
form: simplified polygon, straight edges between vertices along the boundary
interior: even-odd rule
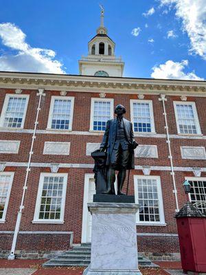
[[[3,126],[3,121],[4,121],[4,118],[5,118],[5,112],[6,112],[6,109],[8,107],[8,102],[9,102],[10,98],[25,98],[26,99],[25,110],[24,110],[24,113],[23,113],[21,127],[4,127]],[[3,102],[3,108],[2,108],[2,111],[1,111],[1,118],[0,118],[0,127],[1,128],[4,128],[4,129],[23,129],[24,122],[25,122],[25,116],[26,116],[26,113],[27,113],[27,106],[28,106],[29,98],[30,98],[30,95],[27,95],[27,94],[6,94],[5,95],[5,99],[4,99],[4,102]]]

